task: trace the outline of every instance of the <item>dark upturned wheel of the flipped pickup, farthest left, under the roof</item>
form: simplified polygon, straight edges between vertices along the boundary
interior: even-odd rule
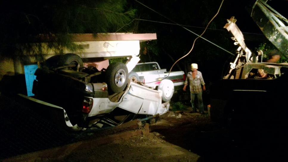
[[[75,67],[68,68],[69,70],[79,71],[79,68],[83,67],[83,60],[81,57],[73,53],[65,54],[62,63],[63,65],[75,65]]]

